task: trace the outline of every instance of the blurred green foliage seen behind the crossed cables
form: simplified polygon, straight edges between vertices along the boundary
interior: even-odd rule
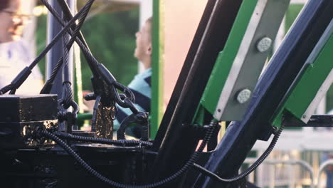
[[[100,14],[85,22],[83,36],[100,63],[103,63],[115,78],[127,85],[137,73],[137,59],[134,58],[135,33],[139,28],[139,11],[115,12]],[[38,53],[45,48],[46,16],[38,18],[36,31]],[[83,90],[92,90],[91,71],[81,54]],[[45,60],[39,63],[45,73]]]

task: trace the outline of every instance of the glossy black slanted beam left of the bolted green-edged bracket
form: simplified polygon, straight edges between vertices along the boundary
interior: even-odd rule
[[[176,172],[196,149],[198,138],[189,134],[184,125],[189,125],[194,117],[216,57],[223,50],[241,2],[208,1],[157,132],[154,151],[159,154],[152,167],[152,181]]]

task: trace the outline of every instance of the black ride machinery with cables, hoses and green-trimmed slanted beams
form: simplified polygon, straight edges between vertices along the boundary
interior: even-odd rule
[[[75,16],[64,0],[57,1],[61,15],[42,2],[63,28],[0,90],[4,187],[245,187],[245,177],[273,150],[283,127],[332,127],[332,115],[312,114],[333,81],[333,0],[309,0],[273,55],[290,1],[209,0],[154,140],[149,115],[135,107],[132,91],[97,61],[80,32],[94,0]],[[15,95],[59,40],[63,55],[41,93]],[[78,113],[68,71],[73,43],[93,74],[93,93],[85,96],[96,100],[90,132],[73,129]],[[50,94],[61,68],[62,95]],[[132,115],[113,140],[116,103]],[[228,127],[217,145],[221,121]],[[141,130],[140,140],[126,140],[132,124]],[[238,174],[255,142],[271,135],[263,155]]]

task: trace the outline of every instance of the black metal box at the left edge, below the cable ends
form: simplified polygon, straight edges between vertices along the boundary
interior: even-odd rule
[[[43,145],[33,134],[58,127],[57,104],[56,95],[0,95],[0,150]]]

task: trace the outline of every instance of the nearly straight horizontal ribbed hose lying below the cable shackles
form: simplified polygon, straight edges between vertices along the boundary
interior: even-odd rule
[[[54,135],[58,137],[63,137],[68,140],[78,140],[84,142],[94,142],[94,143],[102,143],[102,144],[110,144],[110,145],[147,145],[152,146],[151,142],[141,141],[141,140],[110,140],[100,137],[83,137],[78,135],[72,135],[65,132],[54,132]]]

